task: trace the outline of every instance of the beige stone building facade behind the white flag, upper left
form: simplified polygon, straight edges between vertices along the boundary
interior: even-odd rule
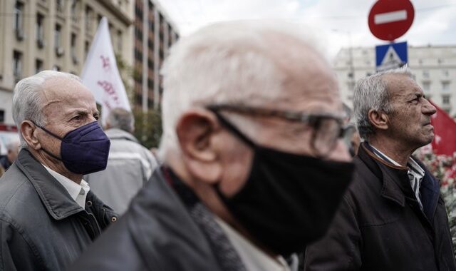
[[[1,0],[0,123],[14,123],[12,90],[21,78],[53,69],[79,75],[100,19],[116,55],[133,66],[135,0]]]

